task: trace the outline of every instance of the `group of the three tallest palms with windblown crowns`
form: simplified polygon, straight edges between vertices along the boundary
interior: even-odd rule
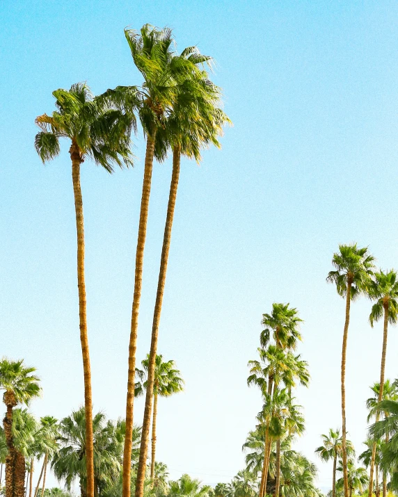
[[[69,153],[72,161],[72,183],[77,225],[77,280],[86,416],[87,497],[95,496],[95,468],[93,402],[84,279],[85,247],[83,200],[80,186],[81,165],[87,158],[91,158],[108,172],[113,172],[114,165],[120,167],[132,165],[131,135],[133,131],[136,131],[137,122],[141,123],[146,138],[146,152],[136,246],[134,298],[129,339],[126,433],[122,463],[122,497],[130,497],[134,429],[133,407],[136,387],[136,341],[152,165],[154,158],[157,161],[164,161],[169,151],[173,154],[173,172],[153,314],[148,374],[145,380],[145,412],[141,448],[136,471],[135,495],[143,497],[152,402],[156,402],[158,394],[154,373],[157,340],[180,174],[180,160],[181,156],[184,155],[200,161],[202,147],[211,144],[219,147],[218,136],[221,135],[223,125],[230,122],[221,110],[221,88],[209,80],[209,74],[205,70],[205,66],[210,67],[212,58],[200,54],[196,47],[187,47],[181,54],[177,54],[173,33],[168,28],[158,29],[145,24],[139,32],[126,29],[125,37],[134,64],[143,76],[141,86],[118,86],[94,97],[85,83],[77,83],[72,85],[70,90],[54,91],[56,111],[51,115],[40,115],[35,120],[40,128],[35,137],[35,148],[43,162],[58,156],[61,151],[61,138],[67,138],[70,142]],[[154,452],[153,448],[152,452]],[[11,494],[8,497],[11,497]]]

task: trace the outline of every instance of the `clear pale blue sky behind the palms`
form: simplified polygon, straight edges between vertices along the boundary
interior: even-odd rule
[[[186,391],[160,400],[157,458],[172,478],[228,481],[262,402],[248,389],[262,313],[290,302],[305,320],[300,352],[310,389],[297,392],[316,460],[322,432],[340,426],[344,302],[326,284],[339,243],[369,245],[398,268],[398,4],[396,1],[11,1],[0,3],[0,355],[38,368],[37,416],[83,401],[76,234],[69,145],[43,166],[34,119],[51,92],[87,81],[98,93],[141,83],[123,28],[175,29],[217,62],[214,81],[234,127],[223,149],[183,161],[159,353],[175,359]],[[124,415],[144,142],[136,167],[113,176],[82,167],[88,333],[95,409]],[[170,181],[154,165],[138,360],[149,350]],[[378,380],[381,324],[353,304],[347,426],[358,453],[365,399]],[[391,329],[387,377],[397,377]],[[143,400],[135,421],[141,423]],[[319,485],[331,466],[319,462]],[[54,481],[50,482],[54,484]]]

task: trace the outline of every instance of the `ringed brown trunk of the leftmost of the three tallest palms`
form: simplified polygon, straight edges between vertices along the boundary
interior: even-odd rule
[[[84,280],[84,222],[83,199],[80,188],[80,166],[83,156],[79,147],[72,141],[70,147],[72,159],[72,181],[74,192],[74,209],[77,229],[77,287],[79,290],[79,328],[81,355],[83,357],[84,374],[84,409],[86,414],[86,471],[87,497],[94,497],[94,445],[93,445],[93,399],[91,394],[90,353],[88,350],[87,317],[86,317],[86,282]]]

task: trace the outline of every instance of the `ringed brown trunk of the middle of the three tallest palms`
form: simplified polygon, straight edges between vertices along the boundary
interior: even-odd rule
[[[138,332],[138,311],[141,300],[141,287],[143,279],[143,260],[145,238],[147,232],[148,208],[150,201],[150,187],[152,181],[152,165],[154,156],[155,136],[148,136],[147,149],[145,153],[145,169],[143,179],[143,193],[141,196],[140,221],[138,225],[138,240],[136,250],[136,268],[134,275],[134,298],[132,305],[132,324],[129,340],[129,372],[127,375],[127,401],[126,401],[126,436],[125,448],[123,452],[123,476],[122,476],[122,497],[130,497],[131,473],[132,473],[132,445],[133,445],[133,408],[134,408],[134,387],[136,374],[136,348]],[[146,457],[146,454],[145,454]],[[144,461],[144,475],[145,475]]]

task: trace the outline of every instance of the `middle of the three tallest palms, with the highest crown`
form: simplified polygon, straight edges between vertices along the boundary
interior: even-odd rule
[[[145,152],[145,168],[143,191],[141,196],[140,219],[136,248],[136,267],[134,273],[134,297],[132,304],[132,323],[129,338],[129,366],[127,375],[126,400],[126,437],[123,456],[122,497],[130,496],[130,480],[132,471],[132,430],[134,388],[136,373],[136,343],[138,332],[138,311],[141,300],[143,275],[143,256],[145,248],[148,207],[152,181],[152,165],[157,131],[164,127],[166,116],[172,108],[177,93],[177,78],[184,73],[184,67],[175,63],[173,57],[173,36],[168,28],[159,30],[145,24],[138,33],[132,29],[125,30],[134,64],[143,76],[143,85],[138,91],[138,115],[147,140]],[[120,95],[125,89],[120,88]],[[152,398],[152,397],[151,397]],[[138,484],[143,485],[145,478],[145,461],[138,471]],[[141,481],[142,480],[142,481]],[[141,482],[141,483],[140,483]]]

